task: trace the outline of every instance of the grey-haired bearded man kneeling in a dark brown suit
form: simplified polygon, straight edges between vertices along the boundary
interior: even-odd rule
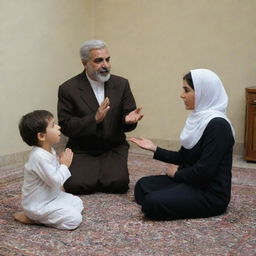
[[[110,74],[106,44],[87,41],[80,49],[84,71],[59,87],[58,119],[74,152],[72,176],[64,189],[73,194],[125,193],[129,145],[125,132],[143,115],[129,82]]]

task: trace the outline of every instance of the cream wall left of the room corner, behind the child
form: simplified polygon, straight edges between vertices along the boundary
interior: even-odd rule
[[[0,0],[0,155],[28,150],[22,115],[47,109],[57,90],[83,70],[79,48],[93,36],[92,0]]]

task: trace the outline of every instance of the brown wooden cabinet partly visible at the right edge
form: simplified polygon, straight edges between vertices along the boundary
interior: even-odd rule
[[[246,88],[245,159],[256,162],[256,87]]]

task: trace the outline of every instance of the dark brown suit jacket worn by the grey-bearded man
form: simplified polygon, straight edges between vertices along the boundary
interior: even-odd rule
[[[84,71],[59,87],[59,125],[69,137],[67,147],[74,153],[100,155],[127,143],[125,132],[135,129],[136,124],[124,122],[125,116],[136,108],[128,80],[111,75],[105,83],[105,97],[110,100],[110,110],[97,124],[99,104]]]

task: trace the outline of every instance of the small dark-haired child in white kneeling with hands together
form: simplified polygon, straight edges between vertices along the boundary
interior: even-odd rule
[[[26,224],[45,224],[58,229],[75,229],[82,222],[82,200],[63,192],[63,183],[71,176],[68,167],[73,152],[66,149],[57,160],[52,148],[60,140],[60,127],[46,110],[23,116],[19,123],[22,139],[33,146],[25,164],[22,208],[14,218]]]

